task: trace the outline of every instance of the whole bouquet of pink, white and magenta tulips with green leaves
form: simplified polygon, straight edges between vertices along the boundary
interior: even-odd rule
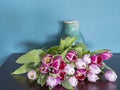
[[[57,85],[73,89],[79,81],[96,82],[102,74],[108,81],[116,81],[116,73],[104,63],[112,57],[110,50],[90,52],[83,43],[74,45],[75,40],[67,37],[58,46],[29,51],[17,59],[22,66],[12,74],[27,73],[30,81],[49,89]]]

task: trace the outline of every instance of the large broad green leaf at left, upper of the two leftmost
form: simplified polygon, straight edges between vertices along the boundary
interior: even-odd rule
[[[27,54],[22,55],[19,57],[16,61],[16,63],[19,64],[26,64],[31,62],[40,62],[41,58],[39,55],[41,55],[44,51],[41,49],[34,49],[32,51],[29,51]]]

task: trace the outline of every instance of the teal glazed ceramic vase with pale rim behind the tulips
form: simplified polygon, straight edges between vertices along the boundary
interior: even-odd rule
[[[64,30],[62,32],[62,38],[77,37],[75,44],[84,43],[83,35],[80,31],[80,25],[78,21],[65,21]]]

